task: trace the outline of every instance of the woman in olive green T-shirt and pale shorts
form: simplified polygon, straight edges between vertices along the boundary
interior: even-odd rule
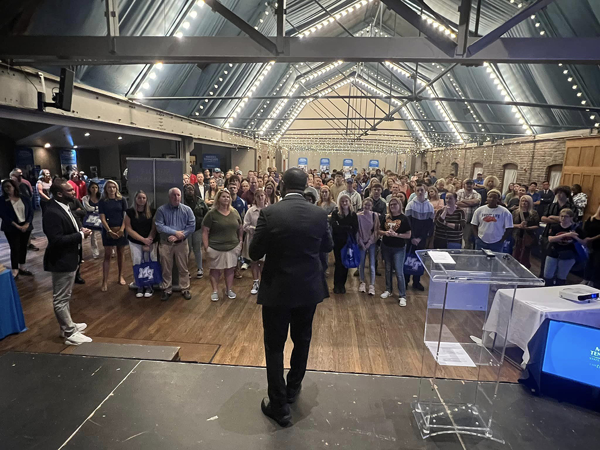
[[[214,302],[219,299],[217,290],[221,271],[225,272],[225,295],[231,299],[236,297],[231,288],[243,237],[242,219],[231,206],[229,191],[222,189],[215,196],[214,208],[202,221],[202,244],[211,269],[211,300]]]

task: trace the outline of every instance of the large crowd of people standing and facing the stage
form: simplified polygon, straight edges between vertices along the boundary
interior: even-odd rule
[[[249,170],[244,174],[239,167],[227,172],[217,168],[212,172],[204,169],[195,174],[185,173],[181,186],[169,191],[168,202],[154,209],[143,191],[134,193],[128,202],[112,180],[107,180],[100,190],[98,182],[86,180],[85,174],[76,170],[64,178],[52,178],[50,171],[43,169],[33,190],[20,170],[15,169],[10,179],[2,182],[1,230],[10,245],[14,277],[31,276],[32,272],[26,269],[26,254],[28,250],[37,250],[31,244],[34,209],[39,205],[43,213],[48,253],[48,249],[56,249],[50,245],[51,238],[56,236],[52,236],[55,224],[46,221],[46,212],[52,203],[58,203],[67,213],[62,218],[72,218],[76,227],[76,231],[70,230],[73,239],[82,236],[77,245],[73,283],[85,283],[79,270],[85,262],[81,242],[91,239],[92,257],[97,259],[101,238],[103,292],[109,290],[113,257],[118,269],[116,283],[127,284],[124,248],[128,246],[134,268],[160,262],[163,301],[173,292],[174,267],[181,295],[191,299],[190,280],[194,274],[197,279],[203,278],[203,258],[209,269],[210,299],[221,298],[221,274],[223,297],[235,299],[234,280],[242,278],[241,271],[247,269],[253,279],[250,293],[259,292],[265,259],[251,259],[249,249],[260,212],[281,200],[280,181],[276,167],[269,167],[265,173]],[[550,190],[549,182],[542,181],[539,187],[536,182],[511,183],[505,194],[500,189],[496,176],[484,178],[482,173],[475,179],[459,179],[453,174],[437,178],[435,170],[412,175],[380,169],[355,173],[309,170],[303,196],[323,209],[329,218],[334,254],[333,292],[337,294],[346,293],[349,269],[341,252],[349,236],[355,239],[360,251],[359,266],[353,273],[359,277],[358,291],[376,295],[375,279],[382,275],[379,271],[382,263],[385,290],[380,297],[393,295],[395,277],[400,306],[407,305],[411,277],[413,289],[425,289],[420,275],[407,271],[405,264],[407,255],[425,248],[503,251],[512,253],[530,268],[531,250],[539,245],[540,276],[547,286],[566,283],[584,248],[587,257],[584,283],[599,286],[600,208],[583,220],[587,197],[580,185]],[[60,212],[53,208],[55,214],[57,211]],[[544,228],[542,232],[540,227]],[[44,263],[47,259],[52,259],[52,255],[45,257]],[[320,255],[319,269],[326,274],[329,274],[329,259],[328,253]],[[55,286],[55,311],[57,317],[63,317],[59,322],[62,320],[61,329],[68,337],[77,333],[73,331],[77,324],[73,325],[70,317],[64,319],[64,311],[58,311],[61,304],[64,309],[67,290],[70,296],[70,289],[64,284],[64,280],[59,280],[58,287]],[[130,287],[137,297],[148,298],[156,286],[137,286],[133,281]],[[77,336],[73,342],[77,344],[82,339],[86,337]]]

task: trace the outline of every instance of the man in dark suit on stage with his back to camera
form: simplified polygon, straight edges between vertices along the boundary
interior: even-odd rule
[[[317,304],[329,296],[319,254],[333,241],[327,213],[304,199],[307,175],[289,169],[281,180],[283,200],[262,209],[250,243],[254,261],[266,255],[258,300],[263,305],[268,398],[261,408],[282,427],[290,422],[290,407],[306,372]],[[290,371],[283,378],[283,348],[287,331],[294,343]]]

